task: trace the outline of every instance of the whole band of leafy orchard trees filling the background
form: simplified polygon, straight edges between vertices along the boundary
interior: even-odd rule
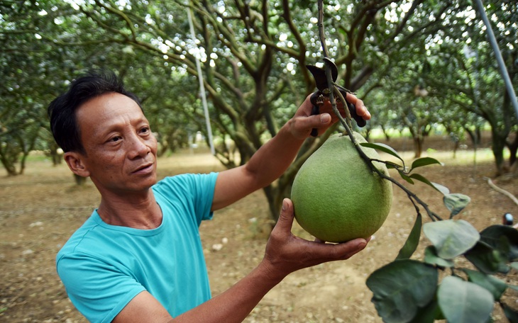
[[[486,3],[517,89],[518,4]],[[316,1],[1,1],[1,162],[14,175],[31,149],[56,151],[45,108],[92,68],[114,70],[139,96],[162,153],[186,145],[189,133],[208,138],[199,60],[215,156],[228,168],[243,164],[314,91],[305,66],[322,62],[317,15]],[[365,132],[409,129],[419,156],[436,126],[454,136],[480,128],[482,119],[492,130],[497,170],[505,169],[505,147],[509,166],[516,165],[517,117],[471,1],[330,0],[324,16],[338,83],[373,113]],[[299,166],[328,136],[307,140],[265,188],[272,216]]]

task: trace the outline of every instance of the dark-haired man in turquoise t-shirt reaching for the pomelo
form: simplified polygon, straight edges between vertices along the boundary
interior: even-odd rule
[[[370,118],[361,100],[348,99]],[[50,125],[70,170],[89,176],[101,193],[99,208],[57,254],[75,307],[92,322],[241,322],[289,273],[362,250],[365,239],[325,244],[294,237],[293,205],[285,199],[263,261],[211,298],[201,221],[277,179],[313,128],[322,133],[336,122],[311,110],[308,96],[243,166],[157,183],[157,142],[136,96],[114,74],[73,81],[50,103]]]

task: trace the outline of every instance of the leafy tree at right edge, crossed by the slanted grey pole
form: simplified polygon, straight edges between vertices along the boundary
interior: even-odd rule
[[[518,4],[501,1],[487,5],[492,28],[505,57],[509,77],[518,90]],[[497,174],[514,166],[518,147],[518,119],[499,73],[495,53],[487,41],[485,26],[475,8],[451,16],[452,28],[439,33],[429,45],[426,60],[432,68],[427,83],[434,95],[480,116],[491,128],[492,152]],[[453,28],[456,26],[456,28]],[[505,165],[504,149],[510,152]]]

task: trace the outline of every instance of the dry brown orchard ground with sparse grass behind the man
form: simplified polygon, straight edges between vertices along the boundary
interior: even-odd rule
[[[392,140],[389,145],[412,161],[410,140]],[[452,193],[472,199],[458,219],[467,220],[479,231],[500,224],[505,212],[518,220],[518,205],[487,184],[495,174],[490,149],[462,149],[456,159],[448,150],[447,138],[425,141],[424,156],[434,157],[444,166],[434,165],[417,172],[441,183]],[[382,155],[384,157],[385,155]],[[159,176],[184,172],[220,171],[222,166],[206,152],[185,151],[159,159]],[[395,179],[398,176],[392,173]],[[504,176],[494,182],[518,196],[518,179]],[[441,195],[422,183],[409,188],[443,218],[448,211]],[[372,294],[365,279],[376,268],[392,261],[414,223],[416,212],[399,188],[385,225],[368,247],[348,261],[325,263],[285,278],[250,313],[246,322],[381,322],[370,302]],[[90,181],[75,186],[65,164],[53,167],[44,158],[33,158],[26,174],[0,177],[0,321],[1,322],[87,322],[68,300],[55,273],[55,254],[70,234],[87,219],[99,203],[99,194]],[[429,219],[424,214],[424,220]],[[262,191],[215,213],[204,222],[201,236],[213,295],[245,276],[261,260],[271,221]],[[312,239],[296,224],[294,234]],[[415,258],[420,259],[427,239]],[[517,273],[507,279],[517,284]],[[505,302],[518,308],[518,293],[508,291]],[[495,322],[507,322],[495,310]]]

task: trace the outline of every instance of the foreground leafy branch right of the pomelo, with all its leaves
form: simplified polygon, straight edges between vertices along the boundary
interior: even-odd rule
[[[386,145],[370,144],[370,147],[378,147],[402,160]],[[433,164],[440,163],[435,159],[417,159],[412,169]],[[390,165],[399,167],[404,180],[411,179],[412,174],[408,176],[409,171],[404,171],[404,166]],[[367,280],[373,292],[372,301],[383,322],[426,323],[446,319],[451,323],[485,323],[490,319],[495,302],[510,322],[514,322],[518,313],[502,301],[502,295],[508,289],[518,288],[498,276],[513,270],[513,263],[518,259],[518,230],[492,225],[479,233],[469,222],[453,220],[452,217],[470,203],[470,198],[450,193],[446,187],[420,177],[421,182],[443,193],[443,203],[451,212],[450,219],[441,220],[417,196],[409,193],[417,209],[414,227],[395,261],[378,268]],[[397,181],[391,181],[403,188]],[[419,205],[426,209],[432,222],[422,224]],[[424,249],[423,260],[410,259],[419,246],[421,227],[431,245]],[[514,268],[516,270],[516,266]],[[444,276],[440,282],[439,276]]]

